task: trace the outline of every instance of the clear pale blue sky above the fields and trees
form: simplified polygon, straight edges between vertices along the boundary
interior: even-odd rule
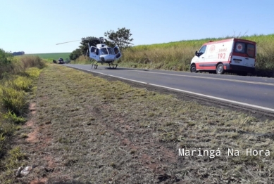
[[[133,44],[273,34],[273,0],[0,0],[0,48],[71,52],[82,37],[125,27]]]

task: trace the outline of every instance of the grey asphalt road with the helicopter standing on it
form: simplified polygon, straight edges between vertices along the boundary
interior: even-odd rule
[[[165,70],[140,70],[118,67],[109,69],[91,65],[71,65],[89,72],[106,74],[152,86],[161,86],[202,98],[212,98],[237,105],[274,112],[274,79],[235,75],[173,72]]]

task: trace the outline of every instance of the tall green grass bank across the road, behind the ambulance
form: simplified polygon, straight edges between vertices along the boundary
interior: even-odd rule
[[[123,49],[123,57],[118,60],[119,66],[147,68],[157,70],[189,71],[190,61],[195,51],[208,41],[230,39],[232,37],[206,38],[189,41],[175,41],[165,44],[132,46]],[[238,36],[257,43],[256,76],[274,77],[274,34]],[[73,63],[90,64],[88,57],[82,56]]]

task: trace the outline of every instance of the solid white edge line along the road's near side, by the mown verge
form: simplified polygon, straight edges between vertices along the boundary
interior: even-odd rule
[[[85,70],[85,69],[82,69],[82,68],[78,68],[78,69]],[[85,70],[85,71],[94,72],[94,73],[97,73],[97,74],[104,74],[104,73],[101,73],[101,72],[95,72],[94,70]],[[116,77],[118,79],[124,79],[124,80],[127,80],[127,81],[135,81],[135,82],[138,82],[138,83],[141,83],[141,84],[147,84],[147,85],[157,86],[157,87],[161,87],[161,88],[168,88],[168,89],[171,89],[171,90],[174,90],[174,91],[180,91],[180,92],[183,92],[183,93],[189,93],[189,94],[196,95],[196,96],[212,98],[212,99],[215,99],[215,100],[221,100],[221,101],[225,101],[225,102],[228,102],[228,103],[235,103],[237,105],[245,105],[247,107],[255,107],[257,109],[268,110],[270,112],[274,112],[274,109],[271,109],[271,108],[268,108],[268,107],[262,107],[262,106],[259,106],[259,105],[252,105],[252,104],[249,104],[249,103],[240,103],[240,102],[237,102],[237,101],[234,101],[234,100],[227,100],[227,99],[218,98],[218,97],[215,97],[215,96],[207,96],[207,95],[204,95],[204,94],[201,94],[201,93],[194,93],[194,92],[191,92],[191,91],[185,91],[185,90],[178,89],[178,88],[170,88],[170,87],[167,87],[167,86],[161,86],[161,85],[158,85],[158,84],[151,84],[151,83],[147,83],[147,82],[144,82],[144,81],[137,81],[137,80],[127,79],[127,78],[124,78],[124,77],[118,77],[118,76],[111,75],[111,74],[104,74],[104,75],[110,76],[110,77]]]

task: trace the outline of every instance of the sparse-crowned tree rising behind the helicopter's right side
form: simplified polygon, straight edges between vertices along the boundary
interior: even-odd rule
[[[105,37],[108,37],[108,39],[113,40],[117,46],[122,50],[123,48],[130,47],[130,41],[133,39],[130,38],[132,34],[130,33],[130,29],[118,28],[117,32],[114,32],[113,30],[110,30],[108,32],[104,33]]]

